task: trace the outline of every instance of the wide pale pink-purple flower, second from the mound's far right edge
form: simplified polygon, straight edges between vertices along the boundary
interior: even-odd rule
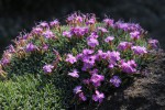
[[[143,55],[146,54],[146,48],[144,46],[132,46],[132,51],[134,52],[134,54],[136,55]]]

